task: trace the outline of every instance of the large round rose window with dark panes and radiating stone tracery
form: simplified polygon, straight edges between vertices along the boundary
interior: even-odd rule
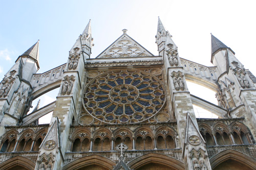
[[[165,100],[164,86],[154,75],[135,69],[114,70],[88,83],[83,107],[106,123],[137,123],[153,117]]]

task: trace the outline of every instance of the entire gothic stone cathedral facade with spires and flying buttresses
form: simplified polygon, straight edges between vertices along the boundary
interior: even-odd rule
[[[211,35],[208,67],[180,58],[160,19],[158,56],[122,31],[90,58],[90,21],[67,63],[42,74],[39,42],[17,58],[0,84],[0,169],[255,169],[256,78],[231,48]],[[186,81],[216,91],[219,105]],[[219,118],[196,118],[193,104]]]

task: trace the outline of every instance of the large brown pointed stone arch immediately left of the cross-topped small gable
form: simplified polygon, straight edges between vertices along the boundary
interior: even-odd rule
[[[86,167],[86,166],[90,166],[90,165],[99,165],[102,166],[106,169],[113,169],[113,166],[116,165],[115,162],[113,162],[112,160],[105,158],[103,156],[99,156],[99,155],[91,155],[91,156],[86,156],[86,157],[82,157],[79,159],[74,160],[73,162],[65,165],[63,167],[64,170],[68,170],[68,169],[79,169],[82,167]]]

